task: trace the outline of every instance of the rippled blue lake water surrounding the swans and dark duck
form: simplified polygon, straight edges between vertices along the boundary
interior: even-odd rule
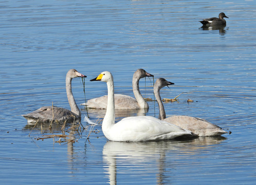
[[[253,184],[256,181],[256,5],[254,1],[10,1],[0,2],[1,184]],[[198,21],[225,12],[223,30]],[[161,89],[170,115],[204,118],[231,135],[189,141],[107,141],[101,127],[65,132],[74,143],[41,139],[61,126],[32,129],[21,116],[51,105],[69,109],[65,76],[87,76],[86,99],[116,93],[133,97],[132,76],[143,68],[175,83]],[[152,98],[153,79],[140,80]],[[82,81],[72,81],[82,118]],[[193,102],[188,103],[187,100]],[[157,104],[147,115],[158,116]],[[88,111],[92,121],[104,111]],[[118,112],[122,117],[137,112]],[[67,129],[70,125],[67,125]],[[62,139],[61,141],[64,141]]]

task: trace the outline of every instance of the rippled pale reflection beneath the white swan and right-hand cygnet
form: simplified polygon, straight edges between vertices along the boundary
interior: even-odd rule
[[[126,176],[122,179],[129,178],[127,175],[133,176],[138,175],[137,173],[145,173],[142,175],[150,176],[150,180],[155,178],[157,184],[164,184],[165,179],[171,179],[170,169],[177,168],[177,161],[187,162],[190,155],[195,157],[194,155],[202,149],[210,150],[211,148],[212,150],[212,147],[216,147],[216,144],[220,144],[225,139],[225,137],[218,136],[199,137],[185,141],[107,141],[102,151],[103,163],[106,164],[105,173],[108,174],[110,184],[117,184],[117,173],[119,176]],[[155,174],[155,177],[152,174]],[[147,182],[145,181],[145,183]]]

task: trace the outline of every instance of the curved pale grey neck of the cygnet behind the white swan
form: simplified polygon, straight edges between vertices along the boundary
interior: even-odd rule
[[[133,93],[134,93],[135,99],[137,100],[140,108],[149,108],[148,103],[144,100],[144,98],[140,94],[139,80],[140,80],[139,78],[133,77]]]

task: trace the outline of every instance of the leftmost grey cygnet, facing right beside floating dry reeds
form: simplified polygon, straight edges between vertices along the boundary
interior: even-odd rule
[[[59,121],[59,122],[73,122],[76,119],[81,118],[81,112],[78,108],[74,96],[71,90],[71,81],[73,78],[77,77],[86,77],[78,72],[76,69],[70,69],[66,75],[66,91],[67,91],[67,99],[71,108],[67,110],[65,108],[60,108],[56,106],[43,106],[34,112],[31,112],[27,115],[23,115],[27,120],[28,123],[35,123],[35,122],[51,122]],[[52,116],[53,113],[53,116]]]

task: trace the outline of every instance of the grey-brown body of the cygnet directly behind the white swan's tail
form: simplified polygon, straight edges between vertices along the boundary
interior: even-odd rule
[[[164,121],[190,130],[198,136],[220,136],[227,133],[221,127],[209,121],[191,116],[171,116],[164,119]]]

